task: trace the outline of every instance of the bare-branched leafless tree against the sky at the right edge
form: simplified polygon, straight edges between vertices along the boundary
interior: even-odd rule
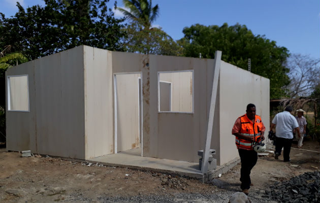
[[[286,62],[290,70],[288,76],[291,80],[287,85],[287,95],[291,98],[309,96],[320,82],[320,59],[308,55],[292,54]]]

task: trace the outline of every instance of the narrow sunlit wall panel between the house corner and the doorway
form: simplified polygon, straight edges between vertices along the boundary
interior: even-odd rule
[[[84,46],[85,157],[114,153],[111,52]]]

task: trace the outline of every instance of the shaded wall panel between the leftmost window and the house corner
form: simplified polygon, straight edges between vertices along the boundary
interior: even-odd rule
[[[34,74],[38,153],[85,158],[83,47],[35,60]]]

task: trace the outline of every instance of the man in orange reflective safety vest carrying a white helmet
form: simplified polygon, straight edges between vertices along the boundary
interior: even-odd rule
[[[242,192],[249,194],[251,169],[257,163],[258,153],[253,150],[255,142],[263,141],[266,127],[261,117],[255,115],[255,105],[248,104],[246,114],[240,116],[233,128],[232,134],[236,136],[236,146],[241,159],[240,181]]]

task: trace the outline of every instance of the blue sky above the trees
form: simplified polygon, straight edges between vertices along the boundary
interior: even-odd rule
[[[17,12],[17,0],[0,0],[0,12],[6,17]],[[44,5],[42,0],[18,0],[26,8]],[[108,3],[113,8],[114,0]],[[118,7],[122,1],[118,0]],[[153,22],[173,39],[179,40],[183,28],[194,24],[223,23],[246,25],[254,35],[264,35],[290,53],[320,58],[320,1],[319,0],[153,0],[159,16]],[[115,11],[116,17],[121,13]]]

